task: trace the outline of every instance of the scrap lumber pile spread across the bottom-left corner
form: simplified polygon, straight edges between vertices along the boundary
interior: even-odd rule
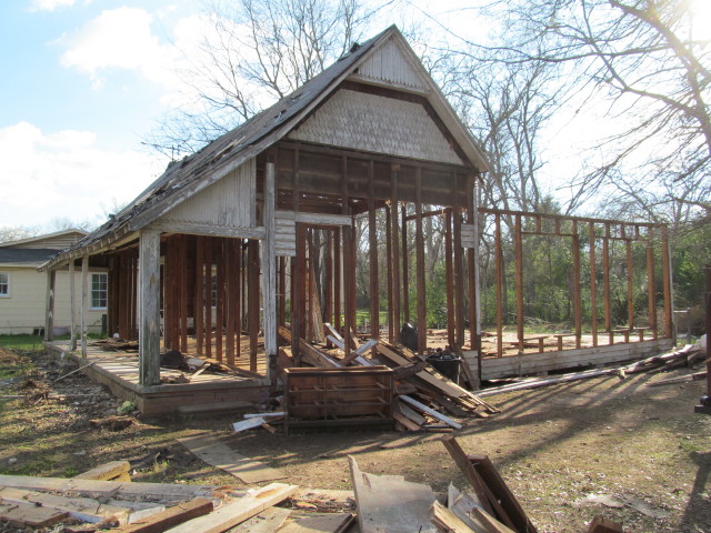
[[[250,529],[252,519],[253,523],[271,526],[259,531],[293,533],[344,531],[353,520],[351,513],[291,516],[291,510],[274,506],[294,496],[298,489],[286,483],[248,491],[234,486],[0,475],[0,521],[17,527],[53,527],[68,533],[220,533],[231,529],[238,533],[254,531]]]

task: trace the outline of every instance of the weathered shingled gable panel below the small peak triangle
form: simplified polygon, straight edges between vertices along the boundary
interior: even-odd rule
[[[339,90],[289,138],[352,150],[462,164],[419,103]]]

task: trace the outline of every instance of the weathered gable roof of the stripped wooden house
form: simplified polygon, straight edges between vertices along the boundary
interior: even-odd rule
[[[192,155],[186,157],[181,161],[171,162],[163,174],[127,208],[113,215],[93,233],[70,247],[51,262],[42,265],[42,269],[87,253],[98,253],[112,244],[122,242],[182,200],[206,189],[244,161],[261,153],[286,137],[342,81],[357,72],[359,66],[372,57],[379,47],[390,39],[399,41],[400,48],[409,57],[411,66],[419,69],[418,78],[429,86],[428,100],[435,112],[442,115],[447,125],[453,129],[454,139],[460,143],[472,164],[480,171],[489,170],[483,152],[457,118],[437,83],[425,72],[398,28],[391,26],[243,124],[219,137]]]

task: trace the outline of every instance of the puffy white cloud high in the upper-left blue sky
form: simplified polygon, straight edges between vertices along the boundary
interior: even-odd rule
[[[76,33],[60,38],[59,43],[67,47],[60,62],[89,74],[96,88],[104,83],[104,76],[113,69],[136,71],[154,83],[172,88],[179,53],[153,34],[152,21],[151,13],[141,8],[102,11]]]

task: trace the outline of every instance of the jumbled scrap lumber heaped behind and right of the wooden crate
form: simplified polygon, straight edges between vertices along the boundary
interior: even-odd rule
[[[354,341],[357,345],[347,358],[343,352],[343,338],[326,325],[327,341],[336,348],[328,349],[299,339],[299,362],[290,355],[288,349],[280,350],[282,372],[299,363],[313,366],[317,371],[323,369],[324,373],[334,369],[387,365],[392,370],[395,382],[392,418],[395,420],[395,429],[400,431],[460,430],[462,425],[451,416],[485,419],[499,412],[490,403],[442,375],[407,348],[377,340],[369,340],[362,345]],[[279,333],[286,342],[291,343],[289,330],[281,328]],[[286,394],[289,394],[289,390]],[[286,403],[289,405],[292,402],[287,398]]]

